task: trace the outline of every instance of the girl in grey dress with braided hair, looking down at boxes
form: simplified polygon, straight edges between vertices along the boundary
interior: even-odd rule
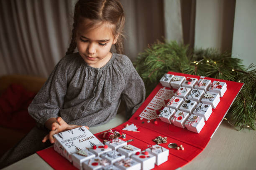
[[[48,147],[56,133],[108,122],[121,99],[128,116],[138,109],[145,87],[131,61],[121,55],[124,22],[118,0],[77,2],[66,56],[28,107],[37,127],[1,158],[0,167]],[[110,52],[112,45],[117,53]]]

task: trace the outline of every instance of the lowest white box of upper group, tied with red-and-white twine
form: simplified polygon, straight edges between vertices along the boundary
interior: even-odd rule
[[[187,121],[185,122],[185,127],[187,128],[187,130],[195,133],[200,133],[204,125],[204,118],[193,114],[190,115]]]

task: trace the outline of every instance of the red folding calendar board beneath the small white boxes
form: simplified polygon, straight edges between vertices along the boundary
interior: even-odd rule
[[[177,72],[168,73],[185,77],[194,77],[197,79],[200,78],[200,76],[187,75]],[[210,79],[212,81],[218,80],[208,77],[206,77],[206,79]],[[163,88],[163,86],[161,86],[160,83],[146,98],[145,102],[143,102],[141,107],[139,107],[139,109],[134,113],[134,115],[127,122],[115,127],[115,129],[122,130],[126,124],[130,125],[132,123],[136,125],[137,128],[140,128],[140,132],[125,131],[125,140],[133,139],[133,141],[129,144],[141,148],[141,150],[146,149],[148,145],[154,145],[155,143],[152,140],[159,135],[168,138],[166,144],[161,144],[161,146],[165,148],[168,148],[168,143],[177,143],[178,145],[183,145],[183,147],[185,148],[183,151],[169,149],[168,161],[163,163],[162,165],[155,166],[154,170],[172,170],[182,167],[189,163],[189,161],[194,159],[206,147],[212,135],[215,133],[215,130],[217,130],[221,121],[228,112],[230,106],[232,105],[239,91],[243,87],[243,83],[231,82],[226,80],[219,81],[226,82],[227,91],[225,92],[225,95],[220,98],[220,103],[218,104],[218,107],[212,110],[210,118],[207,121],[205,121],[205,126],[202,128],[199,134],[193,133],[187,129],[182,129],[174,125],[167,124],[160,120],[157,120],[158,124],[155,125],[152,120],[148,122],[148,120],[146,119],[137,119],[137,117],[146,108],[146,106],[156,95],[156,93],[161,88]],[[101,133],[97,133],[95,134],[95,136],[100,139],[100,134]],[[102,139],[100,140],[102,141]],[[72,163],[70,163],[68,160],[63,158],[58,153],[56,153],[53,148],[38,151],[37,154],[41,156],[41,158],[43,158],[54,169],[76,169],[74,168],[74,166],[72,166]]]

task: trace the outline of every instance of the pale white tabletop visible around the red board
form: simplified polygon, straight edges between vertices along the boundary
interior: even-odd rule
[[[92,133],[114,128],[125,122],[118,114],[105,125],[90,128]],[[226,120],[213,135],[205,150],[182,170],[256,170],[256,131],[237,131]],[[185,148],[186,149],[186,148]],[[3,170],[51,170],[36,153]]]

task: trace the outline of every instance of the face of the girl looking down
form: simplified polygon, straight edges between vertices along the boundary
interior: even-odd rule
[[[87,29],[91,20],[83,19],[77,27],[77,50],[84,61],[91,67],[100,68],[111,58],[110,48],[118,37],[112,34],[111,26],[102,23],[92,29]]]

